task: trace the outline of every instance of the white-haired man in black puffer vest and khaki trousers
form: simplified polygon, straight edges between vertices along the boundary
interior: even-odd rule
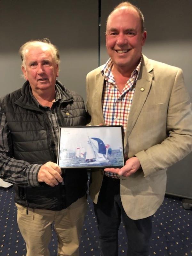
[[[17,221],[27,256],[48,256],[51,225],[58,255],[79,255],[87,172],[56,164],[60,126],[85,125],[81,96],[56,77],[59,52],[48,39],[21,46],[21,89],[0,102],[0,177],[14,183]]]

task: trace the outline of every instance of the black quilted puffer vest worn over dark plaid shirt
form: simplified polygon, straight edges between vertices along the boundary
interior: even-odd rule
[[[85,125],[84,102],[80,95],[69,92],[59,81],[62,100],[58,106],[60,126]],[[50,123],[45,111],[38,108],[29,94],[29,83],[12,92],[2,100],[2,110],[11,131],[13,156],[30,164],[57,162],[52,151]],[[68,115],[66,113],[68,112]],[[67,208],[87,190],[87,172],[80,169],[63,170],[63,185],[55,187],[42,184],[40,187],[21,188],[14,185],[15,202],[27,207],[49,210]]]

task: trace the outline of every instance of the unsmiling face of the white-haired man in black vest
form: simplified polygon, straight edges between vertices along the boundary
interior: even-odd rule
[[[25,67],[22,67],[22,71],[32,91],[41,93],[55,86],[59,69],[49,47],[31,46],[25,52]]]

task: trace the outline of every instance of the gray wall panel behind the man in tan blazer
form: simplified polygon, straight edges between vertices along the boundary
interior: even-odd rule
[[[108,59],[105,49],[105,24],[108,14],[122,1],[101,1],[101,64]],[[148,32],[143,53],[150,59],[183,69],[185,84],[192,99],[192,1],[132,0],[144,14]],[[110,8],[109,8],[110,6]],[[167,172],[166,193],[192,198],[192,153]]]

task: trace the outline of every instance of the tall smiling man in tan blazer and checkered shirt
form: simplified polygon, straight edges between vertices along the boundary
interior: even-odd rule
[[[110,59],[86,78],[91,125],[123,125],[125,165],[92,172],[90,196],[101,255],[118,255],[121,217],[129,256],[148,256],[152,215],[164,200],[167,168],[192,150],[192,112],[180,68],[142,55],[143,14],[128,3],[109,15]]]

